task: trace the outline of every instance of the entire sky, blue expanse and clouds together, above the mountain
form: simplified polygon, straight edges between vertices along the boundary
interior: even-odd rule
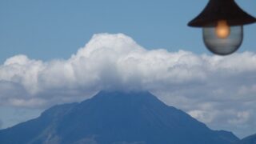
[[[186,26],[207,2],[1,0],[0,129],[98,90],[135,86],[210,128],[254,134],[256,24],[245,26],[238,54],[216,57],[202,30]],[[255,0],[236,2],[256,16]]]

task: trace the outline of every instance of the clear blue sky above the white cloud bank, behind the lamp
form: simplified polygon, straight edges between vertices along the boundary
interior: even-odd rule
[[[186,26],[205,1],[161,0],[2,0],[0,62],[14,54],[50,60],[69,58],[93,34],[123,33],[148,49],[180,49],[208,53],[202,32]],[[254,0],[237,0],[256,15]],[[246,26],[241,50],[255,50],[256,25]]]

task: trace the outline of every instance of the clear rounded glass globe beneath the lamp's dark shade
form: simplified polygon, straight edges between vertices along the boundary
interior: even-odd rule
[[[230,34],[227,38],[219,38],[216,34],[216,27],[203,27],[202,33],[206,47],[214,54],[232,54],[242,44],[242,26],[230,26]]]

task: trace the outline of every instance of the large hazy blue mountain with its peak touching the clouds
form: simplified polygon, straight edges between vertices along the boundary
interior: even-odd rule
[[[53,106],[40,117],[0,130],[2,144],[230,144],[149,92],[102,91],[84,102]]]

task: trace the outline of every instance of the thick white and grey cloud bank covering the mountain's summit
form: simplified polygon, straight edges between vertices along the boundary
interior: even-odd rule
[[[0,66],[0,105],[46,108],[98,90],[150,90],[211,127],[244,136],[256,131],[255,73],[253,52],[146,50],[124,34],[95,34],[66,60],[8,58]]]

